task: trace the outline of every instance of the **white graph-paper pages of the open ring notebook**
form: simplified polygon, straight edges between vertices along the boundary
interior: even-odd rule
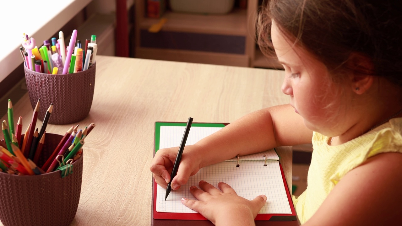
[[[191,127],[187,145],[194,144],[203,137],[219,130],[219,127]],[[160,148],[178,146],[184,133],[184,126],[161,126],[160,127]],[[273,150],[267,153],[276,153]],[[255,154],[253,154],[255,155]],[[252,155],[252,156],[253,156]],[[266,195],[267,203],[260,210],[260,214],[291,214],[289,201],[287,199],[285,185],[281,175],[278,161],[267,161],[264,166],[263,152],[254,157],[240,157],[240,167],[232,160],[220,162],[211,166],[201,168],[200,171],[190,177],[186,185],[182,185],[178,191],[171,191],[166,201],[164,200],[166,189],[157,187],[156,211],[172,213],[195,213],[187,208],[180,201],[185,197],[195,199],[190,193],[190,187],[198,187],[201,180],[211,183],[217,187],[222,181],[229,184],[238,195],[246,199],[254,199],[258,195]],[[277,156],[277,155],[276,155]],[[246,157],[246,158],[244,158]],[[259,161],[245,161],[242,159],[257,159]]]

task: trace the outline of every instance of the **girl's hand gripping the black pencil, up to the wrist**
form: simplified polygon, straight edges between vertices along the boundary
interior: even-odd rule
[[[170,184],[173,190],[177,190],[181,185],[187,183],[189,177],[199,171],[202,158],[201,154],[198,154],[201,153],[199,149],[200,147],[195,144],[185,146],[177,175]],[[152,159],[150,170],[156,183],[161,187],[166,188],[170,181],[170,174],[172,173],[177,152],[178,147],[160,149]]]

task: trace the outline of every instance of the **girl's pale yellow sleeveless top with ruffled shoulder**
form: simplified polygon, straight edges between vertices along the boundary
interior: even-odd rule
[[[384,152],[402,153],[402,118],[387,123],[337,146],[329,146],[330,138],[313,133],[313,153],[307,175],[308,187],[299,197],[293,196],[297,218],[304,224],[349,171],[368,158]]]

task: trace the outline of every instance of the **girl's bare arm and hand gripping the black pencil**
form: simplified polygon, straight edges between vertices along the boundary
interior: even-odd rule
[[[245,115],[214,134],[185,147],[177,176],[172,180],[176,190],[187,183],[200,168],[235,157],[262,152],[277,146],[307,144],[312,131],[290,105],[262,109]],[[177,147],[158,150],[150,170],[156,182],[166,187],[176,159]]]

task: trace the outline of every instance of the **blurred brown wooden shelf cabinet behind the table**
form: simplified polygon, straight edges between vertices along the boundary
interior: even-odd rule
[[[148,32],[159,19],[146,16],[146,0],[135,1],[135,57],[230,66],[275,68],[255,43],[254,18],[258,0],[247,9],[223,15],[166,11],[158,33]],[[280,66],[279,66],[280,68]]]

